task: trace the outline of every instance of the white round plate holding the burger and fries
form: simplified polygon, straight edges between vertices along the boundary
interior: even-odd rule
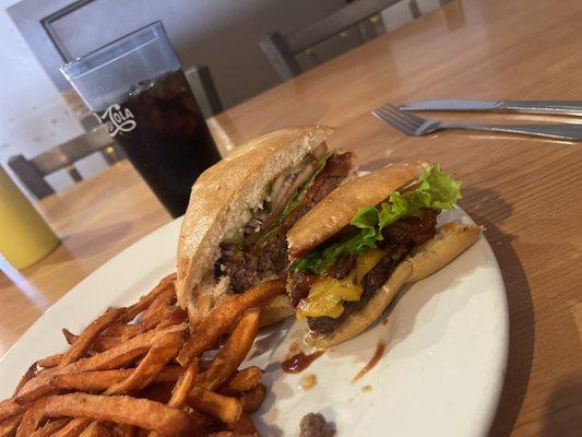
[[[470,221],[462,211],[441,218]],[[175,221],[150,234],[43,315],[0,362],[0,399],[32,362],[66,347],[61,328],[79,332],[108,306],[134,302],[173,271],[178,231]],[[304,327],[288,320],[263,332],[249,355],[249,363],[268,370],[269,397],[256,415],[261,434],[296,436],[302,415],[314,411],[335,422],[338,436],[485,436],[501,390],[509,329],[503,282],[485,238],[408,287],[384,317],[388,322],[333,347],[299,375],[284,374],[278,363]],[[379,339],[387,342],[383,357],[352,382]],[[304,391],[306,374],[318,383]]]

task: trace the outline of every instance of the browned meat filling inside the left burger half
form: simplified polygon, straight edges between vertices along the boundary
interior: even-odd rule
[[[301,202],[283,220],[266,238],[248,246],[224,245],[221,257],[214,264],[214,276],[230,276],[234,293],[241,293],[251,286],[273,276],[284,276],[287,265],[287,231],[328,196],[348,175],[352,154],[331,156],[325,167],[316,177]]]

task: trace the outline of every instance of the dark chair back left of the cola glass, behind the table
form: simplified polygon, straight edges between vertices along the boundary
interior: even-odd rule
[[[107,131],[98,128],[31,160],[23,155],[12,156],[8,160],[8,165],[33,196],[43,199],[55,192],[45,180],[46,176],[66,169],[79,182],[83,177],[74,163],[94,153],[99,153],[108,165],[126,157]]]

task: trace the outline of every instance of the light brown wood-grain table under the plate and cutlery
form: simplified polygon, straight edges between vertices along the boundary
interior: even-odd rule
[[[463,180],[461,206],[487,227],[511,317],[492,436],[582,430],[582,145],[461,133],[404,138],[369,111],[436,97],[577,98],[581,23],[580,1],[452,2],[216,118],[235,143],[280,127],[329,123],[337,127],[331,145],[355,151],[370,168],[423,158]],[[2,352],[72,285],[169,221],[128,164],[40,209],[63,245],[22,276],[11,271],[14,282],[0,277]]]

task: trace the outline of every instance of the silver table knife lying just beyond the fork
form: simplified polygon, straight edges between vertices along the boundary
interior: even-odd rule
[[[582,116],[582,101],[420,101],[402,105],[400,106],[400,109],[558,114]]]

